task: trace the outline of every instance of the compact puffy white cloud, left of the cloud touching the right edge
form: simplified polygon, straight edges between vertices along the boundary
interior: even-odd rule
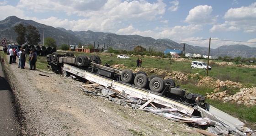
[[[211,15],[212,11],[212,6],[198,5],[189,11],[185,22],[202,25],[214,24],[217,18]]]

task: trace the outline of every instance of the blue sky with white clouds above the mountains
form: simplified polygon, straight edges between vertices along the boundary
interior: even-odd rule
[[[255,0],[0,0],[0,13],[72,31],[256,47]]]

